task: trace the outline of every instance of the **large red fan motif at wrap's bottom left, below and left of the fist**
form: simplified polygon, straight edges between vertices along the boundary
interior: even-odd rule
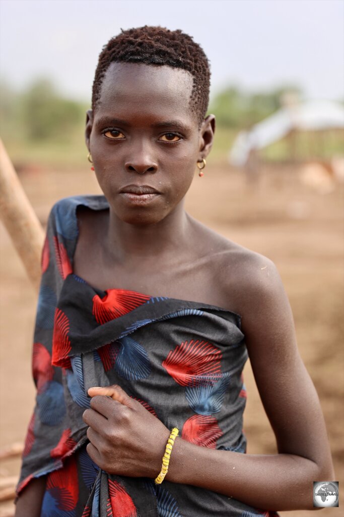
[[[76,480],[78,472],[76,461],[73,457],[64,464],[63,468],[54,470],[47,476],[46,489],[58,489],[59,509],[64,511],[74,510],[78,497],[79,486]],[[54,493],[54,490],[52,490]]]

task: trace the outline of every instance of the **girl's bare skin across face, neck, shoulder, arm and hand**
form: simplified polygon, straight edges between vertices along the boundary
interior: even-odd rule
[[[196,162],[208,155],[215,129],[213,116],[199,127],[189,107],[191,90],[191,75],[182,70],[134,64],[108,69],[100,104],[88,112],[86,143],[109,210],[79,210],[73,269],[102,290],[200,301],[242,316],[279,453],[219,451],[178,437],[166,479],[254,507],[312,509],[313,481],[333,479],[333,468],[280,277],[266,257],[220,237],[184,211]],[[128,195],[129,185],[155,193]],[[92,460],[109,473],[155,478],[170,430],[120,387],[91,388],[89,394],[84,421]],[[270,490],[262,491],[264,485]],[[20,503],[29,492],[19,499],[17,517],[25,515]]]

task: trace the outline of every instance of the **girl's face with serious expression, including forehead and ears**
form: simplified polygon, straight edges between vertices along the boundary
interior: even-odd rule
[[[112,63],[86,143],[97,180],[117,217],[161,221],[181,204],[196,162],[209,153],[214,117],[199,128],[190,109],[192,75],[168,66]]]

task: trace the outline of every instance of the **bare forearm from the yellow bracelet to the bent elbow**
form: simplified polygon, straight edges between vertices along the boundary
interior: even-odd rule
[[[325,475],[325,477],[323,477]],[[306,458],[208,449],[176,439],[166,479],[267,510],[313,509],[313,481],[331,477]]]

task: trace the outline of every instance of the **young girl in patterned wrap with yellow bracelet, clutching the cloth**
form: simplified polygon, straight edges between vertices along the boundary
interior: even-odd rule
[[[181,31],[130,29],[100,55],[86,144],[104,196],[48,221],[17,517],[268,516],[333,479],[274,265],[184,210],[209,78]],[[248,355],[275,455],[244,454]]]

